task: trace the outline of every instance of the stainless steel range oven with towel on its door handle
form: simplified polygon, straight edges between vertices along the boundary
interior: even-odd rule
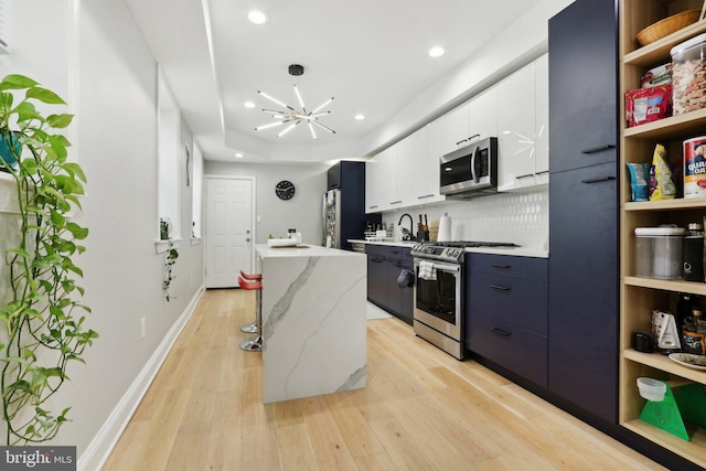
[[[414,331],[458,360],[464,355],[464,248],[494,246],[515,244],[439,242],[411,248],[416,277]]]

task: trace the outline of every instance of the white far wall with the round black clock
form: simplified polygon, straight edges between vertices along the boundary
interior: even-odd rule
[[[286,236],[288,228],[301,233],[304,244],[321,245],[323,239],[322,197],[327,191],[327,164],[271,165],[258,163],[204,162],[206,175],[255,176],[255,239],[265,244],[271,234]],[[297,189],[295,197],[282,201],[275,195],[275,185],[289,180]],[[207,202],[205,204],[208,204]]]

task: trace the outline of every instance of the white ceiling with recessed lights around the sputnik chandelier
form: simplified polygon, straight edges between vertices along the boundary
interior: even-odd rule
[[[541,2],[128,0],[204,158],[228,161],[237,151],[277,161],[315,147],[335,158],[335,149],[364,141]],[[269,21],[248,22],[252,9]],[[437,45],[446,54],[429,57]],[[304,74],[290,76],[289,64],[303,65]],[[297,108],[293,82],[309,110],[335,98],[320,118],[335,135],[317,129],[314,141],[304,124],[281,138],[281,128],[254,130],[274,121],[261,108],[279,108],[257,90]],[[245,108],[247,100],[256,108]],[[366,119],[355,120],[359,113]]]

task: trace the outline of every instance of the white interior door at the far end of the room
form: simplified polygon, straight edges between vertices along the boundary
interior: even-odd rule
[[[254,240],[253,180],[206,178],[206,288],[238,286]]]

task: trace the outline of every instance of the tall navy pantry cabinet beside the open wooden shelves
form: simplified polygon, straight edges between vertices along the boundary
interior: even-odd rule
[[[548,388],[618,421],[619,204],[616,0],[549,20]]]

